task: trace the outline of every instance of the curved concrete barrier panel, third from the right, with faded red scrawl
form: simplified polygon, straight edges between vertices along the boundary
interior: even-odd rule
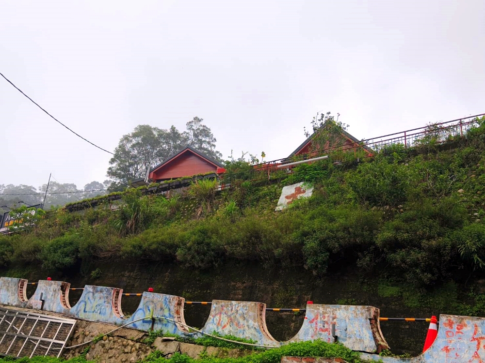
[[[212,300],[209,318],[201,331],[234,335],[262,345],[280,345],[266,328],[266,304],[262,302]]]

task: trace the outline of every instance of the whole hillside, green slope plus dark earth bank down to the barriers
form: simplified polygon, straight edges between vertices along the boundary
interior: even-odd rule
[[[227,299],[267,298],[279,306],[312,298],[319,281],[352,276],[354,288],[343,283],[345,297],[329,302],[393,301],[434,306],[438,314],[484,314],[484,131],[480,125],[447,143],[391,145],[372,158],[352,154],[345,163],[302,164],[269,179],[235,161],[227,167],[230,189],[218,191],[218,182],[206,179],[168,199],[130,189],[114,211],[108,204],[82,213],[59,210],[29,230],[0,237],[1,274],[119,285],[125,277],[142,281],[143,271],[140,286],[157,284],[163,292],[209,300],[219,281]],[[300,181],[314,186],[313,195],[275,212],[282,187]],[[239,272],[231,275],[234,266]],[[274,294],[260,288],[231,295],[242,286],[231,282],[250,271],[265,274],[266,291],[280,286],[282,276],[289,279],[288,271],[298,278]],[[261,283],[254,276],[251,286]]]

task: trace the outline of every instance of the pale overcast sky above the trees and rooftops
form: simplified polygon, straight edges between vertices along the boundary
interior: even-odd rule
[[[113,151],[194,116],[267,160],[317,112],[358,139],[485,112],[483,0],[1,1],[0,72]],[[0,78],[0,184],[104,181],[111,155]]]

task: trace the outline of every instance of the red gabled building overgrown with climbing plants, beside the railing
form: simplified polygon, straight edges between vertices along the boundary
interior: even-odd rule
[[[318,145],[315,147],[314,145],[314,139],[315,136],[317,136],[321,130],[323,130],[325,127],[328,127],[327,122],[322,125],[320,129],[315,131],[313,134],[311,134],[300,146],[298,146],[291,154],[288,156],[288,158],[291,158],[293,156],[299,156],[299,155],[306,155],[308,156],[307,158],[311,157],[316,157],[323,155],[325,151],[332,152],[332,151],[359,151],[359,150],[365,150],[367,156],[372,156],[375,152],[368,148],[365,145],[360,145],[360,141],[357,140],[354,136],[350,135],[347,131],[341,130],[339,132],[340,135],[335,137],[333,142],[330,140],[324,141],[323,145]]]

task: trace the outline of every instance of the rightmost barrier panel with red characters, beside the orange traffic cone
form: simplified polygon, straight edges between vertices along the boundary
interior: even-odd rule
[[[433,345],[413,358],[362,354],[362,359],[384,363],[481,363],[485,362],[485,318],[440,315]]]

